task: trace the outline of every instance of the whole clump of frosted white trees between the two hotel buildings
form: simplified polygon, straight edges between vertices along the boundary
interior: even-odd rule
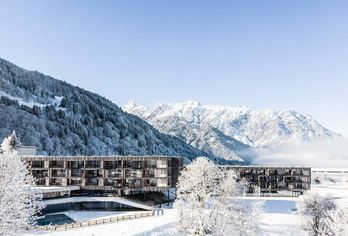
[[[174,207],[179,229],[197,235],[257,235],[262,205],[238,199],[242,184],[231,170],[199,157],[181,171]]]

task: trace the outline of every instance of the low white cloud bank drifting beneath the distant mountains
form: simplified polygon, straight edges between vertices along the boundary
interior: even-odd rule
[[[256,165],[291,165],[314,168],[348,168],[348,140],[336,139],[284,148],[255,150]]]

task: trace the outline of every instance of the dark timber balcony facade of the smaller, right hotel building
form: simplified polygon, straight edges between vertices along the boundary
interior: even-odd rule
[[[248,183],[247,193],[299,195],[310,189],[311,168],[294,166],[225,166]]]

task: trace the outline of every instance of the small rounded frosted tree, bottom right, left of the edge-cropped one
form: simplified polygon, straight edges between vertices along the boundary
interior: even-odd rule
[[[310,235],[332,235],[330,224],[337,203],[331,195],[316,190],[307,191],[301,196],[297,208],[302,217],[302,226]]]

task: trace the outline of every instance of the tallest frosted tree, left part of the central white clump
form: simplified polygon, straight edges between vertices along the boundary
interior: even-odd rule
[[[198,157],[181,171],[174,208],[179,212],[179,229],[191,234],[206,235],[211,231],[209,220],[211,197],[218,191],[219,168],[205,157]]]

